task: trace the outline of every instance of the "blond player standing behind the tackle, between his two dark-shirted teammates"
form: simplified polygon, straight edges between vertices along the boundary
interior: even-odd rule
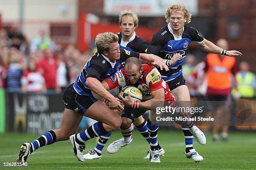
[[[141,37],[136,35],[136,28],[138,28],[138,16],[136,13],[131,12],[131,10],[125,10],[119,15],[119,25],[121,32],[118,32],[118,43],[120,44],[120,48],[129,51],[135,51],[140,53],[146,53],[148,43],[143,40]],[[124,62],[122,63],[123,68]],[[147,121],[142,117],[136,118],[133,122],[138,131],[143,135],[143,137],[150,143],[148,130],[147,130]],[[90,150],[89,153],[84,155],[85,159],[100,159],[102,158],[102,150],[110,138],[111,133],[100,136],[97,145],[93,150]],[[160,156],[164,154],[164,149],[158,145]],[[149,150],[147,152],[145,159],[149,158]]]

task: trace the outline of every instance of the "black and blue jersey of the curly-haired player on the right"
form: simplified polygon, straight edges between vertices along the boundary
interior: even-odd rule
[[[182,62],[184,61],[189,44],[192,42],[195,45],[201,44],[201,37],[197,30],[192,27],[184,26],[182,35],[179,37],[173,34],[170,24],[164,26],[156,32],[148,46],[147,53],[158,55],[163,59],[170,60],[172,56],[179,53],[182,56],[174,65],[169,66],[169,71],[158,70],[164,81],[174,80],[179,75],[182,75]]]

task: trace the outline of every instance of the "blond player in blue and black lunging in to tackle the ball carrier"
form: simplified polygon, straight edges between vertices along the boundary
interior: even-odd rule
[[[95,45],[98,52],[84,65],[77,80],[64,91],[63,100],[66,108],[62,116],[61,128],[44,133],[32,143],[23,143],[17,161],[26,162],[36,149],[56,141],[69,139],[76,157],[84,162],[85,141],[117,130],[122,122],[113,110],[123,110],[123,107],[116,97],[105,90],[101,81],[114,75],[121,62],[128,57],[138,57],[144,62],[164,66],[163,62],[151,55],[119,49],[118,36],[112,32],[98,34]],[[96,100],[92,92],[107,99],[109,107]],[[82,133],[72,135],[77,131],[83,115],[99,122]]]

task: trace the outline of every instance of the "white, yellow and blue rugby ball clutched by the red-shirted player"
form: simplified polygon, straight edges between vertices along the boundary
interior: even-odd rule
[[[136,88],[134,86],[127,86],[127,87],[122,88],[122,90],[120,91],[120,95],[123,98],[128,97],[127,92],[130,93],[131,98],[133,99],[133,101],[141,102],[141,100],[143,98],[141,90],[139,90],[138,88]]]

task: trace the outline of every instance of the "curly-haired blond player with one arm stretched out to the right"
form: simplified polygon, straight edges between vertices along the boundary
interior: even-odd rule
[[[166,10],[165,18],[168,25],[154,34],[147,52],[149,54],[159,55],[163,59],[168,59],[168,61],[174,55],[181,57],[181,60],[174,65],[170,65],[168,61],[166,62],[166,65],[169,65],[169,71],[159,70],[159,72],[162,78],[169,84],[169,88],[177,101],[190,101],[189,90],[182,76],[182,62],[186,57],[190,42],[210,53],[228,56],[240,56],[242,54],[235,50],[223,50],[201,37],[195,28],[184,25],[190,22],[191,14],[187,7],[182,4],[170,5]],[[182,127],[182,130],[185,135],[186,143],[185,155],[189,158],[189,153],[195,153],[200,157],[195,149],[193,149],[193,135],[195,135],[196,132],[191,133],[186,127]],[[205,142],[201,141],[201,143]],[[194,156],[192,159],[195,161],[197,158]]]

